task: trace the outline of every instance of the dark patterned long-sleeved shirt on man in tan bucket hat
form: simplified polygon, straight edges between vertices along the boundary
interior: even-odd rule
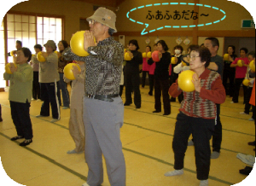
[[[85,61],[85,92],[91,95],[119,94],[124,61],[124,46],[112,37],[88,47],[90,55],[80,57],[71,49],[64,50],[66,60]]]

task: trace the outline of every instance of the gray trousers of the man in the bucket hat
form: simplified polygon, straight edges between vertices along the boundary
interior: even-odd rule
[[[113,102],[84,97],[84,153],[90,186],[103,182],[102,154],[111,186],[125,186],[125,158],[119,134],[123,122],[124,104],[120,97],[113,98]]]

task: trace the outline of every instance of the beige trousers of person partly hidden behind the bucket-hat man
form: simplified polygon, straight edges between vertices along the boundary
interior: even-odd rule
[[[84,151],[85,132],[82,109],[70,108],[69,133],[76,145],[74,150],[77,153]]]

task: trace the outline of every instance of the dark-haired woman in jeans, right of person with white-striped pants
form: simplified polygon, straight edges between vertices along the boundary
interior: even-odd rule
[[[58,61],[58,72],[60,74],[60,89],[61,89],[62,102],[63,102],[63,108],[62,109],[69,108],[69,104],[70,104],[69,93],[67,91],[67,84],[64,82],[64,79],[63,79],[64,67],[69,62],[72,62],[72,61],[64,60],[64,57],[62,56],[62,53],[63,53],[64,49],[67,49],[67,47],[68,47],[68,44],[67,44],[67,41],[65,41],[65,40],[61,40],[59,42],[59,44],[58,44],[58,48],[59,48],[59,52],[58,52],[58,58],[59,58],[59,61]],[[61,105],[61,97],[59,97],[59,102],[60,102],[60,105]]]

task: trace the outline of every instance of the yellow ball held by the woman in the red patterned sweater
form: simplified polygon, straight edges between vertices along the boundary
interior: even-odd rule
[[[183,71],[179,74],[177,84],[183,91],[191,92],[195,90],[195,85],[192,82],[192,77],[195,72],[191,70]]]

